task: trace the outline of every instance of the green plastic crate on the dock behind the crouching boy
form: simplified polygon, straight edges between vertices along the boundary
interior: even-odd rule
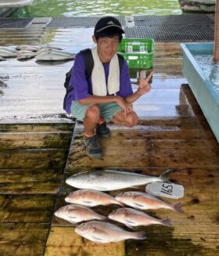
[[[127,61],[128,68],[148,69],[153,67],[152,38],[123,38],[117,53]]]

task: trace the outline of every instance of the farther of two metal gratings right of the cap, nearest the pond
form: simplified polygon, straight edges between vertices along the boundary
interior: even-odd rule
[[[135,26],[189,26],[189,25],[211,25],[214,20],[206,14],[181,14],[163,16],[134,16]]]

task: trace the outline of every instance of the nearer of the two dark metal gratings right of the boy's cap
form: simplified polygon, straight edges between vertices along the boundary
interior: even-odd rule
[[[127,38],[154,38],[156,42],[213,41],[214,25],[125,27]]]

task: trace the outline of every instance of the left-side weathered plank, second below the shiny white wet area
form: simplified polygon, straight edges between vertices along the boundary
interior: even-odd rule
[[[0,150],[24,148],[69,148],[71,132],[0,133]]]

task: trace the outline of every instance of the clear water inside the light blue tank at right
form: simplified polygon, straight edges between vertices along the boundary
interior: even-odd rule
[[[213,55],[210,53],[194,54],[193,57],[204,75],[206,75],[206,78],[212,83],[214,90],[219,93],[219,63],[213,63]]]

